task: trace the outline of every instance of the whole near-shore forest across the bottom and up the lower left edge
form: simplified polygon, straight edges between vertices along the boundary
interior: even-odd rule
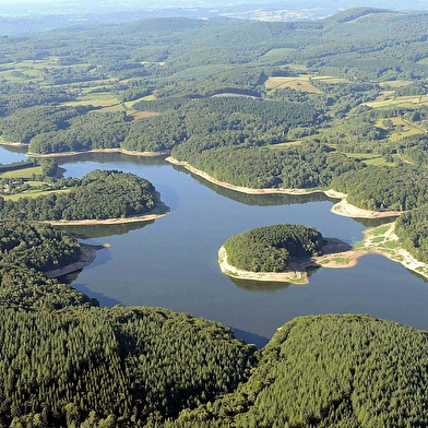
[[[260,233],[280,237],[271,231]],[[48,225],[1,224],[3,426],[428,424],[425,331],[368,316],[301,317],[258,350],[214,321],[99,308],[47,280],[43,270],[55,261],[35,251],[61,265],[79,243]]]

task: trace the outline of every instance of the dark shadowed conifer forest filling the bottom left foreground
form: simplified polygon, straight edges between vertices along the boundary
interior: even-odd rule
[[[228,328],[166,309],[0,309],[0,324],[8,426],[36,414],[48,426],[83,423],[91,412],[126,426],[173,417],[233,391],[254,361],[254,347]]]

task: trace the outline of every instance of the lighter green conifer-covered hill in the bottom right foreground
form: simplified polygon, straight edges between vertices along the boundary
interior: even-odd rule
[[[425,427],[426,332],[365,316],[297,318],[236,393],[167,427]]]

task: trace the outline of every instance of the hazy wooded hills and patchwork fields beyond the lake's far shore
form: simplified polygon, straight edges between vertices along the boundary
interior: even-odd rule
[[[426,158],[427,23],[359,8],[305,23],[169,17],[10,36],[1,138],[34,154],[171,151],[231,185],[330,187],[405,211],[425,203],[425,178],[413,180]]]

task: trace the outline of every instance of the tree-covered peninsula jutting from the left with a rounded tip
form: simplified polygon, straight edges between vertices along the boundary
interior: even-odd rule
[[[60,180],[57,187],[67,182]],[[36,198],[0,198],[0,215],[26,221],[105,219],[141,215],[158,204],[152,183],[133,174],[94,170],[72,183]]]

